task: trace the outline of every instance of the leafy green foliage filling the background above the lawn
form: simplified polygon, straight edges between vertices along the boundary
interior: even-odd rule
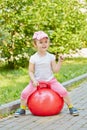
[[[87,46],[86,13],[77,0],[1,0],[0,55],[10,67],[25,66],[34,53],[32,35],[44,30],[49,51],[68,53]]]

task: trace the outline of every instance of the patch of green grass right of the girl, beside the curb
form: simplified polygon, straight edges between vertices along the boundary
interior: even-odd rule
[[[60,82],[65,82],[84,73],[87,73],[87,58],[69,58],[55,76]]]

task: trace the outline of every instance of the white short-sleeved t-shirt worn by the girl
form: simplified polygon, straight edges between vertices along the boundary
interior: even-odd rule
[[[40,56],[37,52],[30,57],[30,63],[35,65],[35,79],[38,81],[49,81],[54,75],[52,72],[51,62],[55,60],[55,56],[46,53],[45,56]]]

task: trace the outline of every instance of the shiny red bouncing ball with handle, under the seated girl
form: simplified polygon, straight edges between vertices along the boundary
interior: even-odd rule
[[[28,98],[28,108],[33,115],[51,116],[60,113],[64,106],[63,98],[49,88],[48,84],[40,84]]]

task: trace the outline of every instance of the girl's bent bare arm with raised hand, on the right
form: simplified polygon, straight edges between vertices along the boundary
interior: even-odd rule
[[[54,73],[57,73],[59,72],[61,66],[62,66],[62,62],[64,60],[64,57],[61,55],[59,56],[59,60],[58,60],[58,63],[56,63],[56,61],[52,61],[52,70]]]

